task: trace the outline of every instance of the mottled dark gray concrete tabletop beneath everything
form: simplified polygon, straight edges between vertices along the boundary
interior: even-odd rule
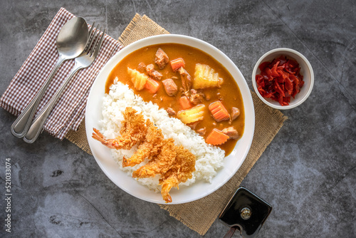
[[[258,237],[356,237],[356,3],[348,1],[0,1],[0,93],[60,7],[118,38],[135,13],[218,47],[244,74],[273,48],[313,66],[310,98],[293,110],[242,185],[273,205]],[[10,133],[0,109],[0,237],[200,237],[157,205],[116,187],[90,155],[42,134]],[[11,158],[11,234],[5,162]],[[218,220],[204,237],[223,237]],[[235,234],[238,237],[238,234]]]

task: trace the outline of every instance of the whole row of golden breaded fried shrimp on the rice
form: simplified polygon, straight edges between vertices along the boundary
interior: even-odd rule
[[[145,120],[142,113],[127,107],[123,113],[120,136],[107,139],[99,130],[93,128],[93,138],[108,148],[130,150],[133,145],[139,145],[130,158],[123,157],[122,167],[139,165],[146,158],[148,162],[132,172],[132,177],[144,178],[158,175],[159,185],[162,185],[162,198],[172,202],[169,191],[178,187],[180,182],[192,178],[195,171],[195,155],[184,147],[174,145],[172,138],[164,139],[162,130],[157,128],[150,119]]]

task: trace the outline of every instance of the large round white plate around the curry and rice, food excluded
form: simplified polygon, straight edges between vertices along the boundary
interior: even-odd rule
[[[201,51],[205,51],[211,55],[223,66],[225,66],[225,68],[231,73],[231,76],[234,77],[239,85],[242,98],[244,100],[244,135],[236,143],[236,146],[231,154],[224,158],[224,167],[218,171],[216,177],[214,177],[211,183],[199,181],[189,187],[181,186],[179,187],[179,190],[173,188],[171,192],[169,192],[172,196],[172,203],[169,204],[180,204],[198,200],[201,197],[211,194],[211,192],[214,192],[219,189],[219,187],[224,185],[236,173],[236,171],[239,170],[239,167],[242,162],[244,162],[248,150],[251,147],[253,131],[255,128],[255,111],[253,108],[251,92],[244,76],[239,71],[239,68],[237,68],[224,53],[219,51],[219,49],[214,46],[211,46],[209,43],[189,36],[169,34],[144,38],[130,44],[129,46],[126,46],[115,54],[115,56],[113,56],[110,61],[105,64],[103,69],[98,74],[98,77],[95,79],[95,82],[90,90],[85,112],[85,129],[90,150],[93,152],[96,162],[98,162],[100,168],[103,172],[105,172],[105,175],[107,175],[110,180],[112,180],[112,182],[114,182],[115,185],[120,187],[122,190],[148,202],[164,203],[164,200],[162,200],[162,196],[159,192],[149,190],[147,187],[140,185],[136,180],[128,176],[126,172],[122,172],[119,165],[117,165],[117,163],[113,160],[110,149],[91,138],[93,128],[100,128],[99,120],[102,119],[101,108],[103,97],[105,95],[105,82],[112,71],[112,68],[114,68],[117,63],[122,60],[122,58],[125,58],[125,56],[133,51],[145,46],[159,43],[181,43],[194,48],[199,48]]]

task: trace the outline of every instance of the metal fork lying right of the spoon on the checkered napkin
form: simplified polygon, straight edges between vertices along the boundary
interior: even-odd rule
[[[33,120],[31,127],[28,129],[28,132],[23,137],[23,140],[26,143],[33,143],[38,138],[38,135],[41,133],[43,129],[44,123],[46,123],[48,115],[51,113],[51,110],[53,109],[54,105],[56,105],[57,100],[61,97],[64,89],[70,82],[70,79],[73,78],[75,73],[77,73],[80,69],[89,67],[94,62],[96,56],[98,56],[101,44],[103,43],[103,38],[105,36],[106,29],[104,29],[104,31],[102,32],[101,31],[102,27],[100,27],[100,30],[98,31],[99,26],[95,28],[94,24],[95,22],[90,28],[90,35],[89,35],[90,42],[88,43],[83,53],[80,56],[78,56],[78,58],[75,58],[75,65],[72,71],[70,71],[69,76],[62,83],[61,87],[57,90],[55,95],[53,95],[51,100],[49,100],[49,102],[44,106],[41,112]]]

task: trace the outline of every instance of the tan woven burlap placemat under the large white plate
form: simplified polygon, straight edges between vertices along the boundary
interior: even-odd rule
[[[155,21],[145,15],[136,14],[121,34],[119,41],[123,46],[127,46],[141,38],[165,33],[169,32],[156,24]],[[283,121],[287,119],[279,110],[270,108],[262,103],[256,93],[251,92],[251,94],[256,113],[255,133],[246,160],[234,177],[219,190],[200,200],[182,205],[159,205],[159,207],[166,209],[172,217],[175,217],[201,235],[204,235],[211,227],[211,224],[219,216],[221,210],[224,209],[248,171],[251,170],[267,145],[271,143],[278,130],[281,129]],[[81,123],[77,132],[70,131],[66,138],[91,154],[85,135],[84,122]]]

